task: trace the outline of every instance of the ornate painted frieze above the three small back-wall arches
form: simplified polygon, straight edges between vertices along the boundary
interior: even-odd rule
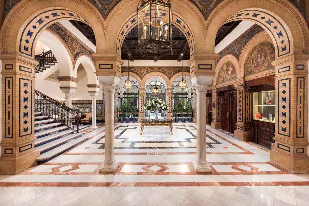
[[[176,73],[182,71],[182,67],[174,67],[174,66],[147,66],[147,67],[129,67],[129,71],[138,75],[141,79],[146,76],[146,74],[150,72],[161,72],[165,74],[169,79],[172,78]],[[121,73],[128,72],[128,67],[121,67]],[[190,67],[184,67],[184,72],[190,73]]]

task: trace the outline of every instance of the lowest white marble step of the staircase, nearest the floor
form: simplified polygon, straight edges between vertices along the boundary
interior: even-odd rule
[[[82,134],[78,133],[80,136]],[[75,134],[75,135],[78,135],[78,134]],[[61,138],[62,139],[62,138]],[[68,151],[69,149],[72,149],[73,147],[75,147],[76,145],[79,145],[81,143],[83,143],[84,141],[87,141],[88,140],[88,137],[85,136],[81,136],[81,137],[78,137],[72,141],[69,141],[69,142],[66,142],[65,144],[63,145],[60,145],[54,149],[51,149],[49,150],[48,152],[45,152],[43,154],[40,154],[40,156],[36,159],[37,163],[40,164],[40,163],[43,163],[43,162],[47,162],[55,157],[57,157],[58,155]],[[53,141],[54,142],[54,141]],[[43,146],[43,145],[42,145]],[[36,148],[37,149],[37,148]]]

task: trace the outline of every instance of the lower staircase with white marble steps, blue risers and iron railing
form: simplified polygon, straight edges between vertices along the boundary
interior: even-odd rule
[[[34,136],[40,151],[37,163],[47,162],[87,141],[78,133],[80,118],[75,111],[35,90]]]

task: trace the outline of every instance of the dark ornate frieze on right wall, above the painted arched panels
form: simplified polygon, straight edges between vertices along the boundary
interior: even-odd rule
[[[250,27],[246,32],[244,32],[241,36],[239,36],[236,40],[234,40],[231,44],[229,44],[226,48],[219,52],[216,65],[220,61],[220,59],[226,54],[233,54],[237,59],[239,59],[239,56],[248,41],[258,32],[261,32],[263,30],[264,29],[257,24]]]

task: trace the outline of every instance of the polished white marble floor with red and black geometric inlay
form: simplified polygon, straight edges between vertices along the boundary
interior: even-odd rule
[[[207,126],[211,173],[197,173],[196,124],[115,125],[115,173],[99,174],[104,124],[88,141],[18,175],[0,175],[0,205],[309,205],[309,175],[269,161],[269,150]]]

